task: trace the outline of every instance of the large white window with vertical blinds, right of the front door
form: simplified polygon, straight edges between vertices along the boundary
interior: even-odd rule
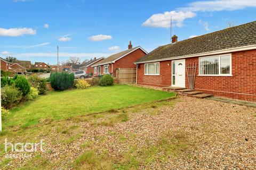
[[[231,54],[199,57],[199,75],[231,76]]]

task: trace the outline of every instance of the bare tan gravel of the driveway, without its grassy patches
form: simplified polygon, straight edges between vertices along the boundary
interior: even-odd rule
[[[139,162],[133,169],[256,169],[256,108],[185,96],[178,97],[172,104],[170,101],[170,106],[128,111],[129,121],[111,126],[70,120],[65,128],[74,125],[79,128],[61,134],[61,138],[60,132],[53,128],[50,137],[47,135],[45,139],[51,152],[42,156],[62,169],[72,168],[70,159],[74,161],[87,150],[99,155],[107,151],[107,159],[115,161],[130,152]],[[154,109],[157,113],[152,114]],[[96,122],[101,119],[102,116]],[[169,134],[166,140],[175,137],[171,141],[171,147],[178,147],[175,155],[166,157],[166,148],[157,153],[148,152],[150,146],[163,145],[159,139],[166,134]],[[63,137],[69,139],[76,135],[80,138],[68,145],[61,142]],[[92,145],[82,148],[88,141]],[[154,159],[147,161],[148,156]]]

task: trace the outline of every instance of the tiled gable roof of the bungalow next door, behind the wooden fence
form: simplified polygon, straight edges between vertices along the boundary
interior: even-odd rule
[[[103,64],[108,64],[108,63],[114,62],[114,61],[118,60],[119,58],[121,58],[121,57],[123,57],[123,56],[125,56],[127,54],[130,54],[130,53],[132,53],[133,51],[135,51],[137,49],[141,49],[143,52],[145,52],[147,54],[146,50],[144,50],[143,48],[138,46],[138,47],[134,47],[134,48],[131,48],[131,49],[127,49],[127,50],[125,50],[123,52],[119,52],[119,53],[110,55],[109,57],[105,58],[104,60],[100,61],[97,64],[94,64],[93,66],[103,65]]]

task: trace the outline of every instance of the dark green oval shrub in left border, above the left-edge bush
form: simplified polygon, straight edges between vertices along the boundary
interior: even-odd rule
[[[30,84],[22,75],[15,75],[14,86],[22,92],[23,96],[26,96],[30,91]]]

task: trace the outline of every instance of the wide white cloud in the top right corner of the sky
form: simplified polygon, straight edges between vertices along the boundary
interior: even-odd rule
[[[196,1],[188,4],[188,7],[178,8],[180,11],[234,11],[246,7],[256,7],[256,0],[215,0]]]

